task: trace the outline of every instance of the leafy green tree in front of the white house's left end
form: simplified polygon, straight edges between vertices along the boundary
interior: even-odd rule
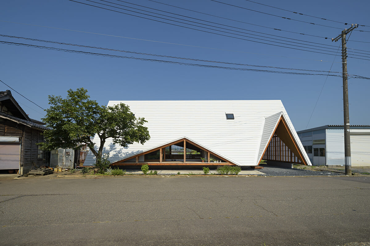
[[[43,132],[46,142],[40,143],[41,148],[78,149],[87,144],[98,163],[108,138],[122,147],[135,142],[144,144],[150,139],[148,128],[144,126],[147,121],[135,117],[124,103],[113,107],[100,106],[95,100],[90,100],[84,88],[67,92],[65,99],[48,96],[51,106],[46,109],[46,116],[42,120],[51,130]],[[92,141],[95,134],[100,139],[99,146]]]

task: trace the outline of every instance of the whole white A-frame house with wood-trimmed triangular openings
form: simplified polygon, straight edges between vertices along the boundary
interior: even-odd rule
[[[311,165],[280,100],[110,101],[148,122],[150,140],[127,148],[108,139],[112,165]],[[98,137],[94,139],[99,144]],[[184,148],[186,151],[184,151]],[[201,159],[205,159],[202,163]],[[84,165],[94,165],[88,154]]]

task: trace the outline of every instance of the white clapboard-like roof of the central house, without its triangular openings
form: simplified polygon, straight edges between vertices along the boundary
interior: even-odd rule
[[[134,143],[127,148],[107,139],[104,151],[110,153],[111,162],[186,137],[236,165],[258,165],[273,130],[283,118],[310,163],[280,100],[110,101],[108,106],[118,103],[128,105],[135,116],[148,121],[145,126],[151,138],[144,145]],[[229,113],[234,119],[226,119]],[[99,144],[98,138],[94,142]],[[85,163],[95,163],[91,153]]]

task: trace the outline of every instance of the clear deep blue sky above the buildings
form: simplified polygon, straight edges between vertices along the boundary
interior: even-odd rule
[[[91,3],[86,0],[76,1],[135,14],[126,10]],[[100,0],[95,1],[116,7],[127,8]],[[342,72],[340,50],[337,53],[338,56],[334,56],[291,48],[308,50],[307,44],[311,44],[316,45],[311,46],[312,48],[325,50],[314,51],[328,53],[330,49],[330,54],[335,54],[336,49],[340,46],[340,42],[332,42],[330,38],[336,37],[340,34],[341,30],[350,27],[350,25],[344,25],[344,23],[358,23],[360,25],[367,25],[367,27],[361,26],[357,28],[356,31],[353,31],[347,42],[347,47],[352,48],[349,49],[349,51],[358,52],[352,54],[363,56],[358,56],[357,58],[364,59],[348,58],[348,73],[370,77],[369,1],[359,1],[356,4],[349,4],[348,1],[343,0],[259,1],[259,3],[273,7],[342,23],[295,14],[246,0],[220,0],[220,2],[249,8],[255,11],[229,6],[211,0],[158,0],[161,3],[171,4],[214,16],[195,13],[149,0],[127,0],[129,3],[180,14],[185,17],[134,6],[118,0],[107,1],[166,14],[171,17],[196,21],[202,24],[205,22],[186,17],[214,22],[217,24],[211,24],[209,22],[205,24],[223,27],[228,29],[223,29],[224,31],[236,34],[238,34],[236,31],[248,33],[239,33],[245,36],[256,37],[250,34],[257,34],[265,37],[273,37],[270,35],[280,36],[273,37],[280,40],[270,40],[264,37],[258,37],[262,40],[255,40],[250,37],[223,33],[223,35],[231,35],[233,37],[267,42],[290,48],[191,30],[189,28],[129,16],[127,14],[108,11],[68,0],[1,1],[0,34],[171,57],[317,71],[329,71],[332,67],[332,72]],[[258,13],[256,11],[268,13],[270,15]],[[271,14],[292,18],[296,21],[271,16]],[[144,16],[142,14],[135,15],[191,27],[187,24],[179,24],[173,21]],[[225,18],[232,20],[226,20]],[[314,23],[314,25],[309,23]],[[219,24],[223,24],[223,26]],[[226,27],[225,25],[230,27]],[[198,27],[193,26],[191,28]],[[271,28],[284,31],[273,30]],[[198,29],[221,33],[205,28]],[[359,30],[364,32],[360,32]],[[305,35],[296,33],[304,33]],[[324,39],[324,37],[328,39]],[[168,57],[76,47],[3,36],[0,37],[0,40],[75,51],[192,64],[327,74],[327,72],[293,71],[184,59],[179,60]],[[291,42],[288,43],[288,41]],[[286,44],[278,44],[277,42],[284,42]],[[304,48],[293,45],[304,46]],[[334,45],[336,47],[328,45]],[[88,90],[91,99],[97,100],[101,105],[106,105],[108,100],[280,99],[296,130],[303,130],[306,129],[306,127],[311,128],[326,124],[343,124],[343,92],[342,78],[340,77],[205,68],[151,62],[141,59],[76,54],[73,52],[9,44],[0,44],[0,54],[1,81],[43,108],[48,107],[48,95],[61,95],[64,97],[68,89],[84,87]],[[349,57],[352,57],[352,55],[349,55]],[[9,88],[6,85],[0,83],[0,90],[7,89]],[[317,101],[321,90],[321,96]],[[370,124],[369,91],[369,80],[349,79],[351,124]],[[28,102],[14,91],[13,96],[31,118],[40,119],[45,115],[42,109]],[[317,106],[313,111],[316,101]],[[174,108],[175,107],[176,105],[174,105]],[[313,115],[310,119],[312,112]]]

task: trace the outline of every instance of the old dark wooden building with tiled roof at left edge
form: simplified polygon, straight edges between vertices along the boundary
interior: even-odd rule
[[[44,123],[28,117],[11,95],[0,92],[0,170],[19,170],[48,165],[48,155],[37,146],[43,142]]]

